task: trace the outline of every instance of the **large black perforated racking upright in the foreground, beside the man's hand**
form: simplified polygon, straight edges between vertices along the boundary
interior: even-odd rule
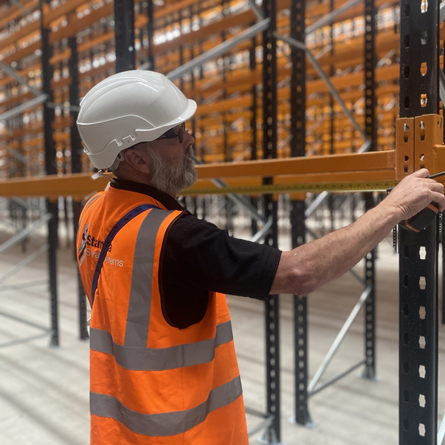
[[[401,0],[401,118],[438,112],[438,11],[438,0]],[[406,138],[420,129],[405,126]],[[437,443],[437,233],[435,221],[419,233],[399,228],[401,445]]]

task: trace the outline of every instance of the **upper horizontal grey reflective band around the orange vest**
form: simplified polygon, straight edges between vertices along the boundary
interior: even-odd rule
[[[214,359],[215,348],[233,340],[230,320],[216,325],[216,335],[209,340],[180,344],[170,348],[129,348],[113,342],[111,334],[90,328],[90,348],[114,356],[117,364],[133,371],[164,371]]]

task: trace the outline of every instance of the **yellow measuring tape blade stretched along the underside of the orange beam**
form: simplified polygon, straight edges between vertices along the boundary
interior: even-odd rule
[[[194,187],[182,190],[179,194],[275,194],[275,193],[321,193],[328,192],[367,192],[386,191],[394,187],[399,181],[366,181],[366,182],[320,182],[312,184],[267,184],[262,186],[238,186],[238,187],[202,187],[198,184]]]

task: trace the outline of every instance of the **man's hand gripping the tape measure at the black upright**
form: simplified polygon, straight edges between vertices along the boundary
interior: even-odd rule
[[[439,204],[441,212],[444,211],[444,186],[427,176],[429,171],[424,168],[403,178],[381,204],[400,212],[401,220],[413,217],[433,201]]]

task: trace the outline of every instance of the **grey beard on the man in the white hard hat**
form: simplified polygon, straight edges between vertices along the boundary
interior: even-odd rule
[[[158,190],[174,196],[180,190],[190,187],[196,182],[198,172],[193,163],[190,162],[191,149],[187,149],[180,166],[169,162],[169,159],[162,158],[151,147],[147,147],[146,150],[151,159],[150,184]]]

